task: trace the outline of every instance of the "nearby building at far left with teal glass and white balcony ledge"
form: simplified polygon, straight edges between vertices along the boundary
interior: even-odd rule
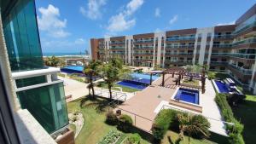
[[[64,143],[73,143],[73,132],[67,129],[63,81],[57,78],[60,69],[44,66],[34,0],[0,3],[1,56],[7,53],[7,59],[0,62],[1,67],[6,66],[2,70],[10,70],[15,111],[27,110],[53,138],[65,135],[62,139],[68,137],[68,141]]]

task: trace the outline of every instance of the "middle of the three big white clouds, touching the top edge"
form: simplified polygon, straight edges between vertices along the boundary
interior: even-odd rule
[[[80,7],[80,13],[91,20],[97,20],[102,17],[102,6],[106,4],[106,0],[89,0],[87,10]]]

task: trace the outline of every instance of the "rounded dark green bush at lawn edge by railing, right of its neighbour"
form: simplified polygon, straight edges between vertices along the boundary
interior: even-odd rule
[[[126,114],[122,114],[119,117],[118,129],[124,132],[130,132],[132,127],[132,119]]]

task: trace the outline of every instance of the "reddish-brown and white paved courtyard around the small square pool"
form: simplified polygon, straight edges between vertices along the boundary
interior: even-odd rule
[[[177,77],[177,76],[176,76]],[[165,77],[165,87],[160,86],[162,83],[162,77],[153,82],[151,86],[137,92],[130,100],[125,101],[122,105],[116,109],[122,110],[123,113],[128,114],[133,118],[135,125],[142,130],[151,133],[152,124],[154,118],[160,112],[161,109],[172,108],[183,112],[192,112],[195,114],[202,114],[205,116],[211,124],[210,130],[219,135],[227,135],[223,123],[223,118],[218,109],[215,98],[215,90],[210,80],[206,80],[206,92],[199,96],[199,103],[202,107],[202,112],[195,112],[193,106],[184,105],[177,102],[177,104],[171,104],[170,100],[180,86],[175,85],[171,74]]]

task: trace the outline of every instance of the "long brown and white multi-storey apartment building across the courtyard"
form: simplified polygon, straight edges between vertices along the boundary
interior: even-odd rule
[[[119,57],[131,66],[207,64],[256,94],[256,4],[235,25],[91,38],[90,47],[93,60]]]

